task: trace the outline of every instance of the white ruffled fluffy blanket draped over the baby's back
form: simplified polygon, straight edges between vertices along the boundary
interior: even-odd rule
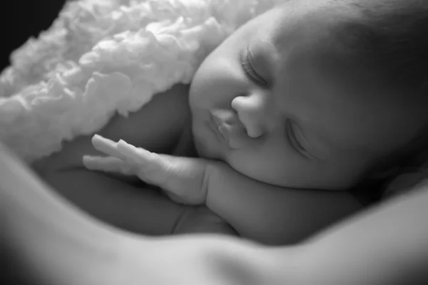
[[[0,75],[0,140],[26,162],[96,133],[153,94],[190,83],[203,58],[284,0],[68,2]]]

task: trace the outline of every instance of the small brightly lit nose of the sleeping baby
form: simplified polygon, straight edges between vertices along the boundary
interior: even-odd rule
[[[232,108],[238,113],[250,138],[258,138],[264,133],[265,101],[263,94],[238,96],[232,100]]]

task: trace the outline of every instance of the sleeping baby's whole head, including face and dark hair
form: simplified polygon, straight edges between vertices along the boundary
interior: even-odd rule
[[[423,145],[427,35],[422,1],[285,1],[195,74],[198,152],[285,187],[347,189],[379,174]]]

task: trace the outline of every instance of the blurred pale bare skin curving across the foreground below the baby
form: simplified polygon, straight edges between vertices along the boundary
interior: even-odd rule
[[[88,219],[0,144],[0,250],[19,257],[16,269],[31,284],[428,284],[428,187],[418,188],[297,247],[218,237],[153,241]]]

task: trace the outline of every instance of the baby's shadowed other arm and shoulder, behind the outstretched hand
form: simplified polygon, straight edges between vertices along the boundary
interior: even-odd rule
[[[157,94],[151,102],[128,118],[114,116],[101,134],[124,138],[152,151],[173,150],[188,123],[188,88],[175,86]],[[91,136],[66,142],[60,152],[34,165],[42,179],[93,216],[117,227],[144,234],[169,234],[189,207],[165,199],[131,177],[113,177],[86,170],[82,156],[100,152],[91,145]],[[159,222],[161,221],[161,222]]]

